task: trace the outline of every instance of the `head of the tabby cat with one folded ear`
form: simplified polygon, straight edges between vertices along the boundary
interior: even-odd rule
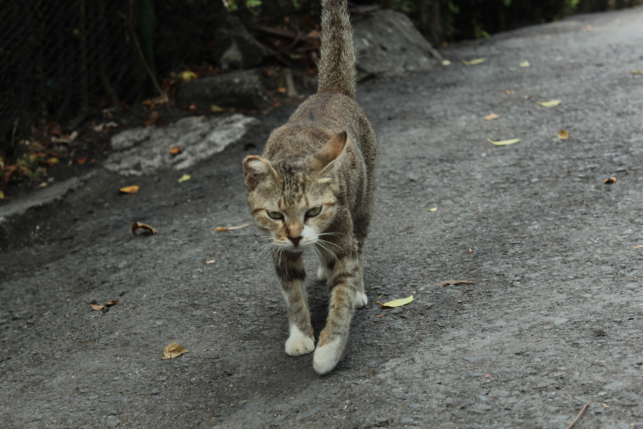
[[[346,140],[341,132],[305,158],[244,159],[250,210],[276,249],[297,252],[325,241],[338,210],[336,170]]]

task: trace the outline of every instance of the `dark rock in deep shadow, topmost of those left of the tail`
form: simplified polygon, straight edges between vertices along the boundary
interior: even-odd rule
[[[226,23],[217,29],[215,41],[217,50],[213,58],[226,71],[257,67],[268,53],[233,15],[228,15]]]

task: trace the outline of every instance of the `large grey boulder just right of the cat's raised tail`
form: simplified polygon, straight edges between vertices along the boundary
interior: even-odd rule
[[[376,10],[354,16],[353,41],[358,55],[358,80],[429,71],[442,60],[404,14]]]

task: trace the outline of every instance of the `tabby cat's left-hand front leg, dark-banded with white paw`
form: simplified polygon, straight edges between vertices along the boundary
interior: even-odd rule
[[[315,349],[315,343],[304,284],[306,273],[303,269],[302,255],[282,252],[275,257],[275,268],[281,282],[290,324],[290,336],[285,342],[285,352],[290,356],[310,353]]]

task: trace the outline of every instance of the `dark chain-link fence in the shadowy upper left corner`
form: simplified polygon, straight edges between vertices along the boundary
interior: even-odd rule
[[[200,64],[222,12],[216,0],[6,2],[0,152],[11,152],[34,127],[73,129],[102,108],[154,95],[150,72],[167,76]]]

